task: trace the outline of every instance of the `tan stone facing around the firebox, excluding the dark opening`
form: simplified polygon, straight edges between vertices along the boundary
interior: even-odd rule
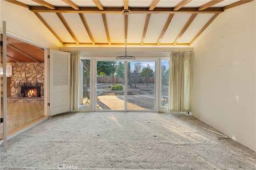
[[[11,63],[12,77],[10,96],[18,97],[20,83],[42,83],[41,96],[44,96],[44,63]]]

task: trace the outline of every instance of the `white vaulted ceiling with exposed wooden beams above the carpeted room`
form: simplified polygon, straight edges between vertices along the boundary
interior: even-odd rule
[[[226,10],[252,0],[6,0],[68,46],[191,45]],[[129,11],[129,15],[124,15]],[[11,47],[10,47],[11,48]]]

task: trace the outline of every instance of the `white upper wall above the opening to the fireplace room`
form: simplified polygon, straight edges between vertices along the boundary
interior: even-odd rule
[[[27,8],[0,1],[1,30],[2,21],[6,21],[6,32],[21,40],[35,45],[59,50],[62,43],[42,24],[37,16]]]

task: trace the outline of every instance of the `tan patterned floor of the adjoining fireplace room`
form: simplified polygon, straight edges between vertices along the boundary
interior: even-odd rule
[[[7,131],[44,116],[44,102],[7,102]],[[3,103],[1,103],[3,117]],[[3,124],[1,123],[3,127]],[[1,134],[3,128],[1,128]]]

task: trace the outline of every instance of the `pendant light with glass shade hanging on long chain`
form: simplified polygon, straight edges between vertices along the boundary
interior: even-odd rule
[[[126,55],[127,53],[127,30],[128,30],[128,15],[130,14],[129,11],[124,11],[124,17],[125,17],[125,55],[122,55],[122,56],[118,56],[116,57],[116,60],[117,61],[121,61],[121,62],[131,62],[131,61],[134,61],[136,59],[136,57],[133,57],[133,56],[129,56],[129,55]]]

